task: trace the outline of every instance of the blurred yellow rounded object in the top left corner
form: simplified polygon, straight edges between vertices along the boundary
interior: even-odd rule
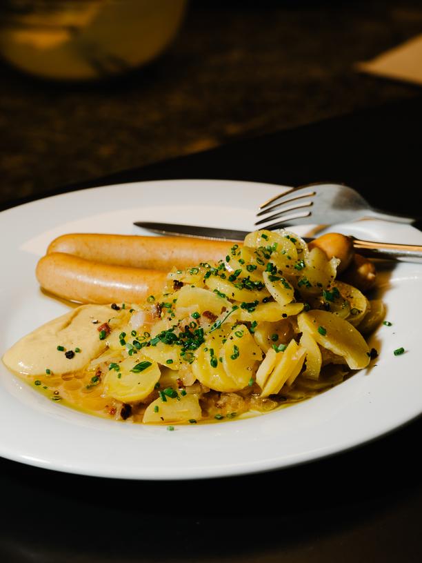
[[[120,75],[157,57],[174,38],[187,0],[8,0],[0,52],[51,79]]]

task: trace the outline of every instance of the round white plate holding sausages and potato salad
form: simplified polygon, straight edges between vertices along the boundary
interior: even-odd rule
[[[34,201],[0,214],[0,355],[19,337],[61,315],[66,305],[41,294],[37,259],[57,235],[141,233],[135,220],[252,228],[257,205],[279,186],[177,180],[107,186]],[[421,244],[422,233],[382,221],[336,227],[368,239]],[[297,229],[304,234],[303,228]],[[50,402],[0,365],[0,455],[70,473],[134,479],[190,479],[281,468],[379,437],[422,411],[419,363],[422,267],[381,274],[393,326],[371,339],[376,366],[308,401],[223,424],[142,426],[84,415]],[[394,356],[404,346],[406,353]]]

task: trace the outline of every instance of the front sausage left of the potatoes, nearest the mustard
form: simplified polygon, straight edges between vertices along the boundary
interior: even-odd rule
[[[65,253],[51,253],[37,264],[41,287],[79,303],[139,303],[162,293],[167,274],[102,264]]]

